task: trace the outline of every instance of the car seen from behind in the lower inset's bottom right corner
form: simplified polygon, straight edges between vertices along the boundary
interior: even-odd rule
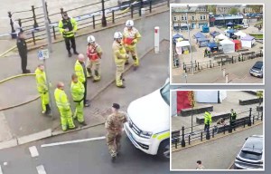
[[[264,166],[264,137],[262,135],[249,136],[234,162],[235,169],[263,169]]]

